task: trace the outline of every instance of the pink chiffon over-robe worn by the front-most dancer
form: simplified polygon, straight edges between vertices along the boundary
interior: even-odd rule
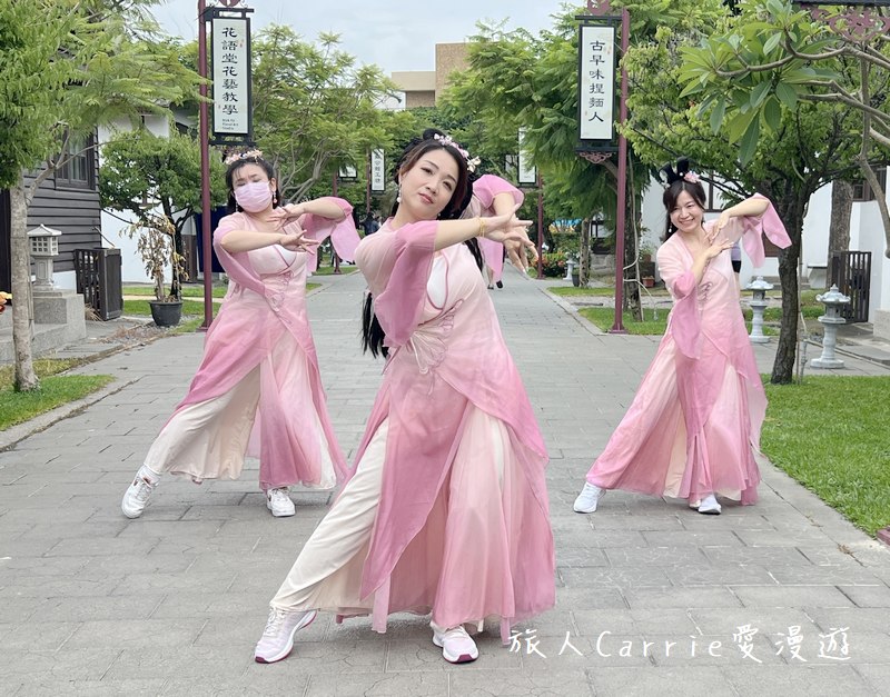
[[[448,263],[447,300],[434,318],[422,321],[431,302],[427,281],[436,228],[431,221],[393,231],[387,221],[362,241],[356,257],[390,350],[357,456],[358,461],[387,419],[382,498],[362,597],[384,586],[388,606],[405,607],[406,597],[399,594],[404,596],[412,579],[399,578],[397,564],[429,517],[468,409],[475,407],[504,422],[524,472],[525,519],[505,521],[516,547],[512,566],[517,588],[515,613],[507,619],[527,617],[553,605],[555,594],[544,481],[547,455],[494,306],[464,245],[441,252]],[[504,605],[512,603],[510,598]]]

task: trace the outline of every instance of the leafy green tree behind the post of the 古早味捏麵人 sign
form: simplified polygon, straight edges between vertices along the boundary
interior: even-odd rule
[[[577,13],[565,11],[540,36],[481,23],[469,48],[469,68],[455,76],[446,103],[483,125],[485,148],[494,152],[516,152],[518,129],[525,129],[526,150],[544,180],[548,218],[602,212],[614,229],[617,166],[611,160],[594,166],[575,151]],[[631,151],[629,172],[625,267],[636,262],[640,203],[650,168]],[[626,283],[625,290],[629,306],[639,313],[639,286]]]

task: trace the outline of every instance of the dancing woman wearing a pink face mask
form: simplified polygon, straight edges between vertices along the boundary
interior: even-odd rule
[[[346,462],[334,437],[306,315],[307,263],[332,236],[352,258],[358,236],[338,198],[279,206],[271,166],[251,151],[227,160],[229,211],[214,248],[229,287],[207,332],[188,394],[123,495],[138,518],[165,472],[235,479],[259,457],[259,485],[275,517],[293,516],[288,487],[329,489]]]

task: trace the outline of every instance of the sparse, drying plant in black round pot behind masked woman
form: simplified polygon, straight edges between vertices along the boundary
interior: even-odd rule
[[[176,327],[182,318],[182,256],[176,251],[176,227],[165,216],[146,212],[142,220],[125,229],[131,239],[138,237],[136,249],[146,265],[146,273],[155,282],[155,299],[149,300],[151,318],[158,327]],[[170,267],[170,292],[164,280]]]

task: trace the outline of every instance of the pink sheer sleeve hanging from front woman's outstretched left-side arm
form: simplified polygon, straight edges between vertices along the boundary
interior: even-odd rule
[[[374,295],[374,313],[387,346],[404,345],[421,321],[437,226],[406,225],[395,232],[376,232],[358,246],[355,260]]]

